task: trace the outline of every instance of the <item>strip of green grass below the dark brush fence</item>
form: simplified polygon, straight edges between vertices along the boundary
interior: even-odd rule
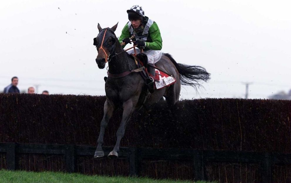
[[[26,171],[8,171],[0,170],[1,183],[194,183],[193,181],[175,181],[169,179],[155,180],[139,177],[107,177],[107,176],[89,176],[78,173],[63,172],[26,172]],[[206,183],[197,181],[195,183]]]

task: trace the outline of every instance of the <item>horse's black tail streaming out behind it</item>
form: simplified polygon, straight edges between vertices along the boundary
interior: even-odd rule
[[[165,53],[164,55],[169,57],[171,62],[173,62],[173,64],[175,65],[176,69],[180,74],[180,83],[182,85],[199,87],[199,80],[207,81],[208,79],[210,79],[210,74],[205,70],[204,67],[180,64],[177,63],[170,54]]]

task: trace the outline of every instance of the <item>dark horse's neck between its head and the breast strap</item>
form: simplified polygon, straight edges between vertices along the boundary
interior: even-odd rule
[[[120,53],[122,51],[123,49],[121,45],[116,43],[116,53]],[[108,66],[108,71],[111,74],[120,74],[122,72],[129,71],[129,69],[134,69],[135,63],[126,52],[122,52],[108,62]]]

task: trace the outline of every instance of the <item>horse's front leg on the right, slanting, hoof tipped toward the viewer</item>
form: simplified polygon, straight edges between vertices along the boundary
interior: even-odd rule
[[[108,157],[110,157],[110,158],[118,157],[120,140],[124,136],[125,128],[127,126],[127,123],[129,121],[133,111],[134,111],[136,104],[137,104],[137,100],[134,100],[134,99],[129,99],[123,103],[123,105],[122,105],[123,106],[122,121],[121,121],[120,126],[117,130],[117,133],[116,133],[116,135],[117,135],[116,144],[115,144],[115,147],[113,148],[113,150],[108,154]]]

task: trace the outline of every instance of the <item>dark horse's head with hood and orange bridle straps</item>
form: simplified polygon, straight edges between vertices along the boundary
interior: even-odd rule
[[[94,38],[93,45],[97,48],[98,55],[95,60],[100,69],[105,67],[105,63],[110,59],[110,55],[115,55],[115,42],[117,38],[114,31],[117,28],[117,24],[112,28],[107,27],[102,29],[98,23],[99,34]]]

